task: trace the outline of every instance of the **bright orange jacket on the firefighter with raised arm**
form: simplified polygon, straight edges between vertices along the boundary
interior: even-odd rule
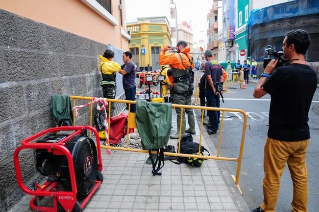
[[[192,59],[192,56],[189,54],[190,51],[191,51],[190,47],[186,46],[179,53],[182,56],[183,64],[185,65],[186,68],[190,67],[190,60]],[[187,56],[184,53],[186,53]],[[185,70],[185,67],[181,63],[178,53],[171,53],[171,54],[165,55],[165,52],[161,51],[159,56],[159,63],[161,65],[171,65],[173,68]],[[192,68],[194,68],[194,64],[192,65]]]

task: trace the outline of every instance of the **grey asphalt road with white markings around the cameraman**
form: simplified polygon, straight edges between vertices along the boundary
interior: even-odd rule
[[[239,108],[245,110],[248,115],[244,157],[240,175],[240,186],[244,193],[244,198],[248,206],[253,209],[259,206],[263,200],[262,179],[263,171],[263,148],[266,141],[268,126],[268,112],[270,106],[270,96],[267,94],[261,101],[243,100],[253,99],[252,92],[255,84],[247,85],[246,89],[229,89],[230,93],[224,94],[225,103],[221,107]],[[236,86],[238,87],[238,86]],[[268,99],[268,100],[267,100]],[[264,100],[264,101],[263,101]],[[311,109],[319,108],[319,90],[315,94]],[[318,109],[317,109],[318,110]],[[319,111],[315,111],[319,114]],[[309,126],[311,133],[311,143],[307,153],[307,166],[309,172],[309,212],[317,212],[319,205],[319,115],[314,111],[309,112]],[[221,156],[236,157],[239,152],[240,134],[242,128],[242,118],[238,114],[226,113],[227,119],[224,122],[222,137]],[[292,114],[293,118],[294,114]],[[217,136],[211,135],[217,146]],[[220,162],[223,169],[236,173],[236,164],[231,162]],[[293,196],[293,186],[288,167],[281,179],[281,188],[277,203],[277,212],[289,212]]]

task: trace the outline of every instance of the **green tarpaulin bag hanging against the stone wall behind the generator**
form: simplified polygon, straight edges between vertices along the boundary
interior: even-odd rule
[[[73,113],[70,97],[66,95],[52,95],[51,109],[58,126],[73,126]]]

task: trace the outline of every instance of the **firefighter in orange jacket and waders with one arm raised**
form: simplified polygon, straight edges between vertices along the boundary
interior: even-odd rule
[[[178,105],[191,105],[193,95],[194,72],[192,71],[194,64],[193,58],[189,54],[190,48],[187,43],[180,41],[176,45],[177,53],[165,54],[166,51],[171,50],[171,46],[165,46],[159,56],[159,63],[162,65],[171,65],[172,77],[174,85],[174,99],[173,103]],[[181,109],[175,108],[177,113],[177,131],[171,134],[170,138],[179,137],[179,125],[181,117]],[[185,109],[187,113],[189,129],[185,130],[186,122],[185,115],[182,118],[181,135],[185,132],[195,134],[195,117],[192,109]]]

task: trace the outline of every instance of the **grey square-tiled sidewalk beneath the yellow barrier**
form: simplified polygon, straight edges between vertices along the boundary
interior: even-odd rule
[[[173,114],[174,127],[174,110]],[[199,142],[198,125],[193,138]],[[177,150],[177,142],[170,139],[169,144]],[[202,145],[216,155],[206,130]],[[104,181],[83,212],[249,211],[229,172],[221,170],[218,161],[205,160],[200,168],[165,161],[162,175],[152,176],[151,165],[145,164],[147,157],[144,153],[113,150],[107,156],[102,149]],[[29,199],[25,196],[11,211],[30,211]]]

